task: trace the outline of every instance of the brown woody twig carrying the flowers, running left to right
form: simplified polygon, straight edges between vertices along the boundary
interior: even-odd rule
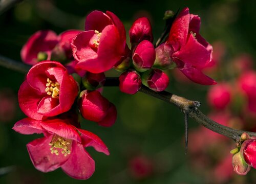
[[[29,65],[26,65],[22,62],[11,60],[3,56],[0,56],[0,65],[7,67],[10,70],[15,70],[22,73],[27,73],[30,68]],[[119,85],[118,77],[107,77],[104,86],[118,86],[118,85]],[[179,107],[188,117],[194,119],[204,127],[212,131],[215,131],[219,134],[225,135],[233,139],[234,141],[238,141],[243,132],[247,132],[250,136],[256,136],[256,132],[233,129],[209,119],[198,109],[198,107],[200,106],[200,102],[198,101],[188,100],[184,97],[179,97],[167,91],[161,91],[157,93],[147,88],[146,86],[142,86],[140,89],[140,92]]]

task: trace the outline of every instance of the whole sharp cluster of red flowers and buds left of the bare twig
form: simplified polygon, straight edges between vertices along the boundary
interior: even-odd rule
[[[121,20],[112,12],[93,11],[86,17],[84,31],[68,30],[59,35],[38,31],[24,45],[21,56],[32,65],[18,91],[18,102],[28,116],[13,129],[22,134],[43,133],[27,145],[36,169],[57,168],[77,179],[89,178],[95,163],[84,149],[109,155],[108,148],[92,132],[80,128],[80,119],[112,126],[117,117],[113,103],[101,95],[104,72],[122,72],[119,88],[135,94],[142,84],[159,92],[166,89],[163,70],[179,68],[194,82],[216,82],[201,70],[211,62],[212,47],[199,34],[200,18],[183,9],[175,18],[169,36],[153,45],[150,21],[135,20],[126,43]]]

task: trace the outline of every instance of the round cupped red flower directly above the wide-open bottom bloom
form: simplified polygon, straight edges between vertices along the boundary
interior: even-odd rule
[[[78,86],[67,69],[56,61],[41,61],[30,69],[18,91],[18,102],[29,117],[41,120],[68,111]]]

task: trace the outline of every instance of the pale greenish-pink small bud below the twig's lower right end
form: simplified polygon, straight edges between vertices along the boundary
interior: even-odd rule
[[[239,175],[246,175],[250,171],[250,166],[246,164],[245,160],[241,156],[241,152],[238,152],[232,157],[232,165],[234,172]]]

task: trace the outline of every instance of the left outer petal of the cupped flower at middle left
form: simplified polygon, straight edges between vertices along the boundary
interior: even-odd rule
[[[32,88],[27,80],[25,80],[18,90],[18,103],[20,109],[22,109],[29,118],[41,120],[43,116],[37,112],[37,105],[43,96],[37,93],[38,91]]]

